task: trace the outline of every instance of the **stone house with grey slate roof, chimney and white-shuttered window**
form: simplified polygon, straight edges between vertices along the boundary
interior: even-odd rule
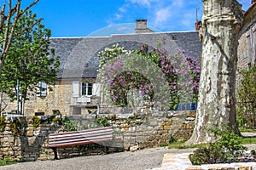
[[[50,48],[55,48],[55,54],[61,57],[58,81],[51,90],[38,91],[26,101],[25,115],[52,115],[53,111],[60,111],[63,115],[84,115],[96,111],[100,101],[100,84],[96,82],[97,54],[116,43],[128,50],[137,48],[141,43],[156,47],[164,37],[165,48],[172,54],[176,54],[177,49],[186,50],[187,55],[200,60],[198,31],[153,32],[148,29],[147,20],[136,22],[137,33],[134,34],[51,38]],[[47,85],[42,83],[42,86]],[[5,112],[17,110],[15,102],[5,101]]]

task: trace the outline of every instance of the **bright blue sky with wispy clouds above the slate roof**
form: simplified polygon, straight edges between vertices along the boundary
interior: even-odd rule
[[[239,2],[244,10],[251,5],[251,0]],[[201,0],[40,0],[32,11],[44,18],[52,37],[86,37],[109,26],[131,26],[119,24],[135,24],[137,19],[147,19],[148,26],[160,31],[191,31],[195,29],[196,8],[201,19]]]

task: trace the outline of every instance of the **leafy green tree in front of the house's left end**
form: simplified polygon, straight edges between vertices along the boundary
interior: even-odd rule
[[[38,82],[53,84],[56,81],[59,57],[55,56],[54,49],[49,50],[50,30],[29,11],[18,20],[16,31],[33,23],[37,24],[14,37],[3,65],[0,89],[12,100],[16,98],[17,80],[23,99],[28,99],[28,92],[35,92]]]

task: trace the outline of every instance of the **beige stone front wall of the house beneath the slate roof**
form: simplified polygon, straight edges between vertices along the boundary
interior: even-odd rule
[[[55,111],[61,112],[63,115],[84,115],[97,110],[97,99],[95,95],[73,97],[73,82],[95,82],[95,79],[84,78],[83,80],[60,80],[55,82],[55,85],[49,86],[47,95],[38,97],[37,95],[30,95],[29,100],[25,104],[25,116],[34,116],[37,113],[44,113],[44,115],[53,115]],[[79,83],[79,87],[81,83]],[[93,90],[93,89],[92,89]],[[79,92],[80,93],[80,92]],[[83,99],[90,98],[87,103]],[[7,105],[4,112],[16,112],[16,101],[10,102],[8,97],[3,98]]]

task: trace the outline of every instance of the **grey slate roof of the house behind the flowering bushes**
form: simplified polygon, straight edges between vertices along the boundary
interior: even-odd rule
[[[179,48],[185,50],[187,55],[201,59],[198,31],[50,38],[50,48],[55,48],[55,55],[61,57],[59,78],[96,78],[99,65],[97,54],[104,48],[116,43],[129,50],[137,48],[140,43],[156,47],[163,37],[166,38],[164,48],[172,54],[176,54]]]

